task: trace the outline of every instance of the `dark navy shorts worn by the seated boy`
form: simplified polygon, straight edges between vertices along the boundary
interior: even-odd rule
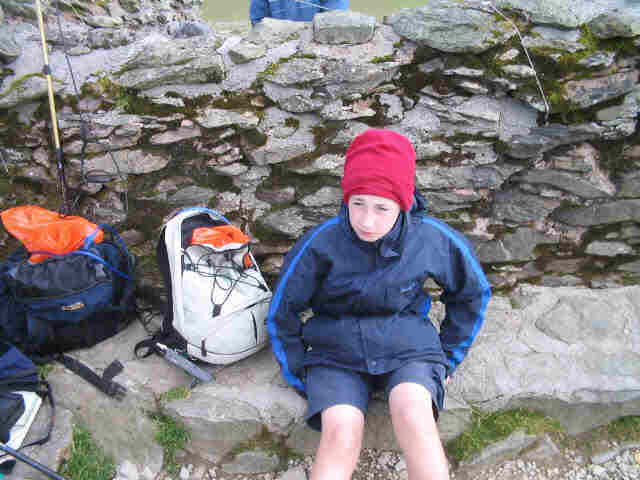
[[[322,429],[322,411],[334,405],[353,405],[367,413],[369,400],[374,392],[382,391],[385,398],[400,383],[410,382],[424,386],[431,394],[433,416],[444,401],[445,368],[440,363],[413,362],[382,375],[371,375],[325,365],[307,368],[307,425],[314,430]]]

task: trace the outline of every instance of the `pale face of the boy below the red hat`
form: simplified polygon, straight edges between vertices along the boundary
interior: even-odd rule
[[[375,242],[391,231],[400,214],[400,205],[378,195],[351,195],[349,222],[358,238],[365,242]]]

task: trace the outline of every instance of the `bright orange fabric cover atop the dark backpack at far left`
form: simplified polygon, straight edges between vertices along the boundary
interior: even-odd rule
[[[0,213],[4,227],[22,242],[30,252],[44,251],[58,255],[72,252],[82,246],[85,238],[98,226],[82,217],[65,217],[35,205],[14,207]],[[98,230],[94,243],[104,239]],[[29,260],[40,263],[50,255],[34,254]]]

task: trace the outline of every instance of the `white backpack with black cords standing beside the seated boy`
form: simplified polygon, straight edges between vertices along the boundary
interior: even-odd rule
[[[202,232],[205,238],[199,240]],[[207,243],[211,235],[214,241]],[[267,344],[271,290],[251,254],[249,238],[226,218],[207,208],[180,211],[162,229],[157,259],[169,307],[154,345],[228,364]]]

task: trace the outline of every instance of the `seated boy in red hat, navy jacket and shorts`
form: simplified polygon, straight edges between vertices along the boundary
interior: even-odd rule
[[[311,480],[351,478],[371,394],[386,393],[410,480],[448,478],[436,427],[444,383],[478,334],[491,295],[470,245],[425,214],[416,155],[403,135],[370,129],[349,146],[340,214],[285,258],[267,318],[282,375],[321,431]],[[440,331],[427,278],[443,289]],[[302,322],[300,313],[313,317]]]

